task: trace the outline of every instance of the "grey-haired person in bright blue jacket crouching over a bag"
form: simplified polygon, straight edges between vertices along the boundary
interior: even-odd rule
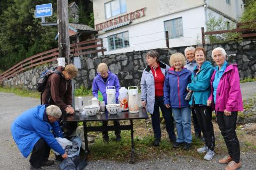
[[[29,169],[42,169],[41,166],[52,165],[54,161],[48,160],[51,148],[61,154],[63,159],[68,157],[54,138],[54,135],[63,137],[57,122],[60,116],[58,106],[38,105],[23,112],[12,123],[12,137],[21,154],[27,158],[31,153]]]

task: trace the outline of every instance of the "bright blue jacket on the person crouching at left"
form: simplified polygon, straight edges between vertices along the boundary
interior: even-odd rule
[[[28,157],[33,150],[36,142],[43,138],[47,145],[53,150],[63,155],[65,150],[54,138],[51,130],[57,137],[63,138],[62,131],[57,121],[50,123],[44,118],[45,105],[38,105],[22,113],[12,123],[12,137],[17,144],[21,154]]]

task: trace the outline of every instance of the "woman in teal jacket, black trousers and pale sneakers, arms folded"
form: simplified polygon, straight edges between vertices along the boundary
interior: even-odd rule
[[[206,152],[204,159],[211,160],[214,156],[215,138],[212,125],[211,107],[207,106],[207,99],[211,93],[210,79],[213,66],[205,61],[206,52],[203,47],[195,49],[195,58],[198,66],[195,67],[191,83],[187,89],[193,91],[189,104],[194,107],[199,126],[203,132],[205,146],[197,149],[198,152]]]

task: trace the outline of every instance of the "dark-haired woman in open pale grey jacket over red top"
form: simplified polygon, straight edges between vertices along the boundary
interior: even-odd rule
[[[170,69],[166,64],[158,61],[159,55],[154,50],[150,50],[146,54],[147,67],[142,73],[141,77],[141,104],[146,107],[147,112],[151,114],[152,126],[154,130],[155,140],[154,146],[159,146],[161,141],[161,129],[160,129],[160,113],[161,108],[166,131],[169,134],[169,139],[173,144],[176,142],[176,136],[174,133],[174,124],[171,110],[164,106],[164,78],[166,72]]]

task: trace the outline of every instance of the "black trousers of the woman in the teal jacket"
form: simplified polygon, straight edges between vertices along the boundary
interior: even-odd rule
[[[212,125],[211,107],[205,105],[194,105],[194,109],[197,121],[204,135],[205,145],[213,151],[215,147],[215,137]]]

